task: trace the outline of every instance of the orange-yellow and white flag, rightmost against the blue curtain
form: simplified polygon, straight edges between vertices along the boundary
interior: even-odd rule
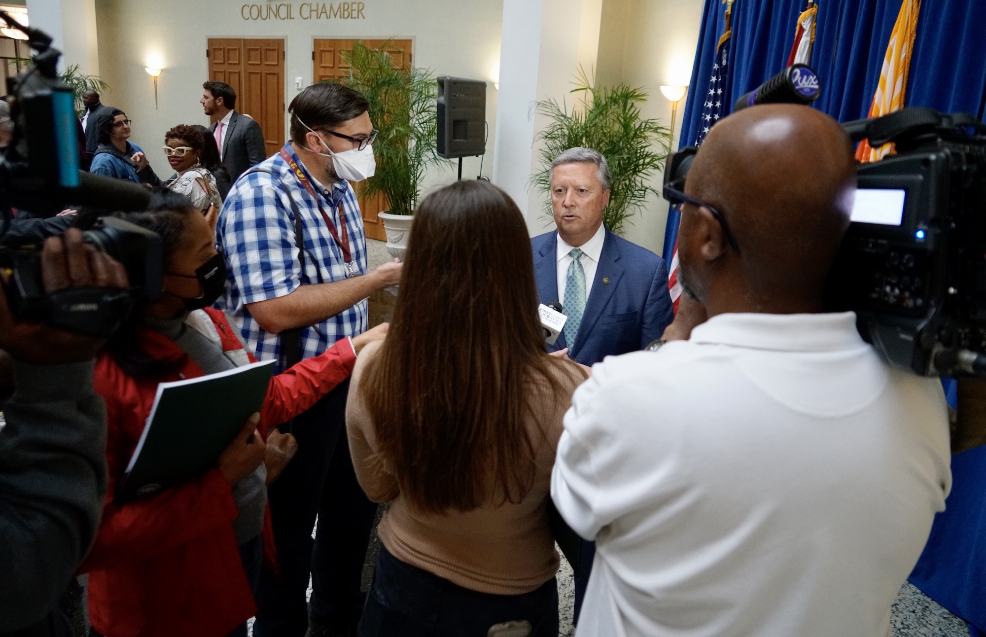
[[[914,50],[914,35],[918,32],[918,13],[921,0],[903,0],[897,22],[893,25],[890,42],[883,56],[880,71],[880,84],[873,96],[870,116],[880,117],[904,106],[904,91],[907,88],[907,74],[911,68],[911,52]],[[871,148],[867,140],[860,142],[856,149],[856,159],[861,162],[876,162],[893,152],[893,144],[883,144]]]

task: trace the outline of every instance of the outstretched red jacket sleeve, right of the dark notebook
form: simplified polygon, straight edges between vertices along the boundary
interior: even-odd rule
[[[327,350],[294,365],[270,380],[260,410],[260,427],[266,430],[306,411],[353,373],[356,353],[344,338]]]

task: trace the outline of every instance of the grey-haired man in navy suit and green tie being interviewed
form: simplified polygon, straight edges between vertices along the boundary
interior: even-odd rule
[[[568,348],[583,365],[643,349],[661,337],[674,313],[668,268],[647,248],[602,225],[609,167],[590,148],[570,148],[551,163],[551,208],[558,229],[530,240],[537,296],[560,301],[568,317],[550,351]],[[575,571],[575,618],[586,594],[596,544],[582,542]]]

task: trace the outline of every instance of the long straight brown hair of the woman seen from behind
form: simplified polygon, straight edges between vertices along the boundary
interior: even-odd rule
[[[387,340],[360,387],[376,460],[399,493],[432,512],[521,502],[536,470],[532,393],[567,401],[565,365],[544,351],[517,204],[479,180],[425,197]]]

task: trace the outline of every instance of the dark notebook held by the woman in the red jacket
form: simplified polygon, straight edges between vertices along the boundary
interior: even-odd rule
[[[116,489],[117,501],[197,478],[260,411],[274,361],[197,379],[161,383],[140,442]]]

